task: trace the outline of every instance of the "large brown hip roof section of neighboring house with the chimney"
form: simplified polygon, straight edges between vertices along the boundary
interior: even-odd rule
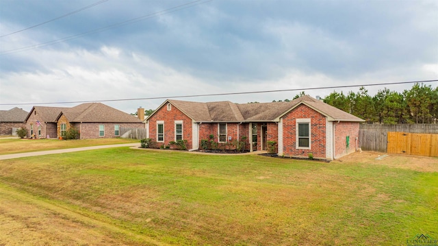
[[[141,123],[140,119],[131,114],[116,110],[103,103],[82,103],[73,108],[67,108],[57,116],[64,114],[70,122],[88,123]]]

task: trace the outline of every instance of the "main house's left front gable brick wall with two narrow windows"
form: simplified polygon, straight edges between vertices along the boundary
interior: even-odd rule
[[[157,121],[164,121],[164,142],[159,145],[168,145],[175,141],[175,121],[183,121],[183,139],[187,140],[187,149],[192,149],[192,119],[177,107],[172,106],[167,110],[167,105],[159,108],[149,119],[149,138],[157,141]],[[201,139],[201,138],[200,138]]]

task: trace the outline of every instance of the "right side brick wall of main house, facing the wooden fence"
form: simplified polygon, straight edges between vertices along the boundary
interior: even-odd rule
[[[359,137],[359,123],[340,122],[335,125],[335,159],[356,151],[356,138]],[[350,137],[347,147],[346,137]]]

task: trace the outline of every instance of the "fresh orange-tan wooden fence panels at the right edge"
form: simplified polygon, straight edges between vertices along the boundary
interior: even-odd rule
[[[438,134],[388,132],[388,153],[438,157]]]

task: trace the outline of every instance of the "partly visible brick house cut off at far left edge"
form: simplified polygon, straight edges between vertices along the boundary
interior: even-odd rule
[[[28,112],[21,108],[0,110],[0,135],[16,135],[12,129],[25,127]]]

